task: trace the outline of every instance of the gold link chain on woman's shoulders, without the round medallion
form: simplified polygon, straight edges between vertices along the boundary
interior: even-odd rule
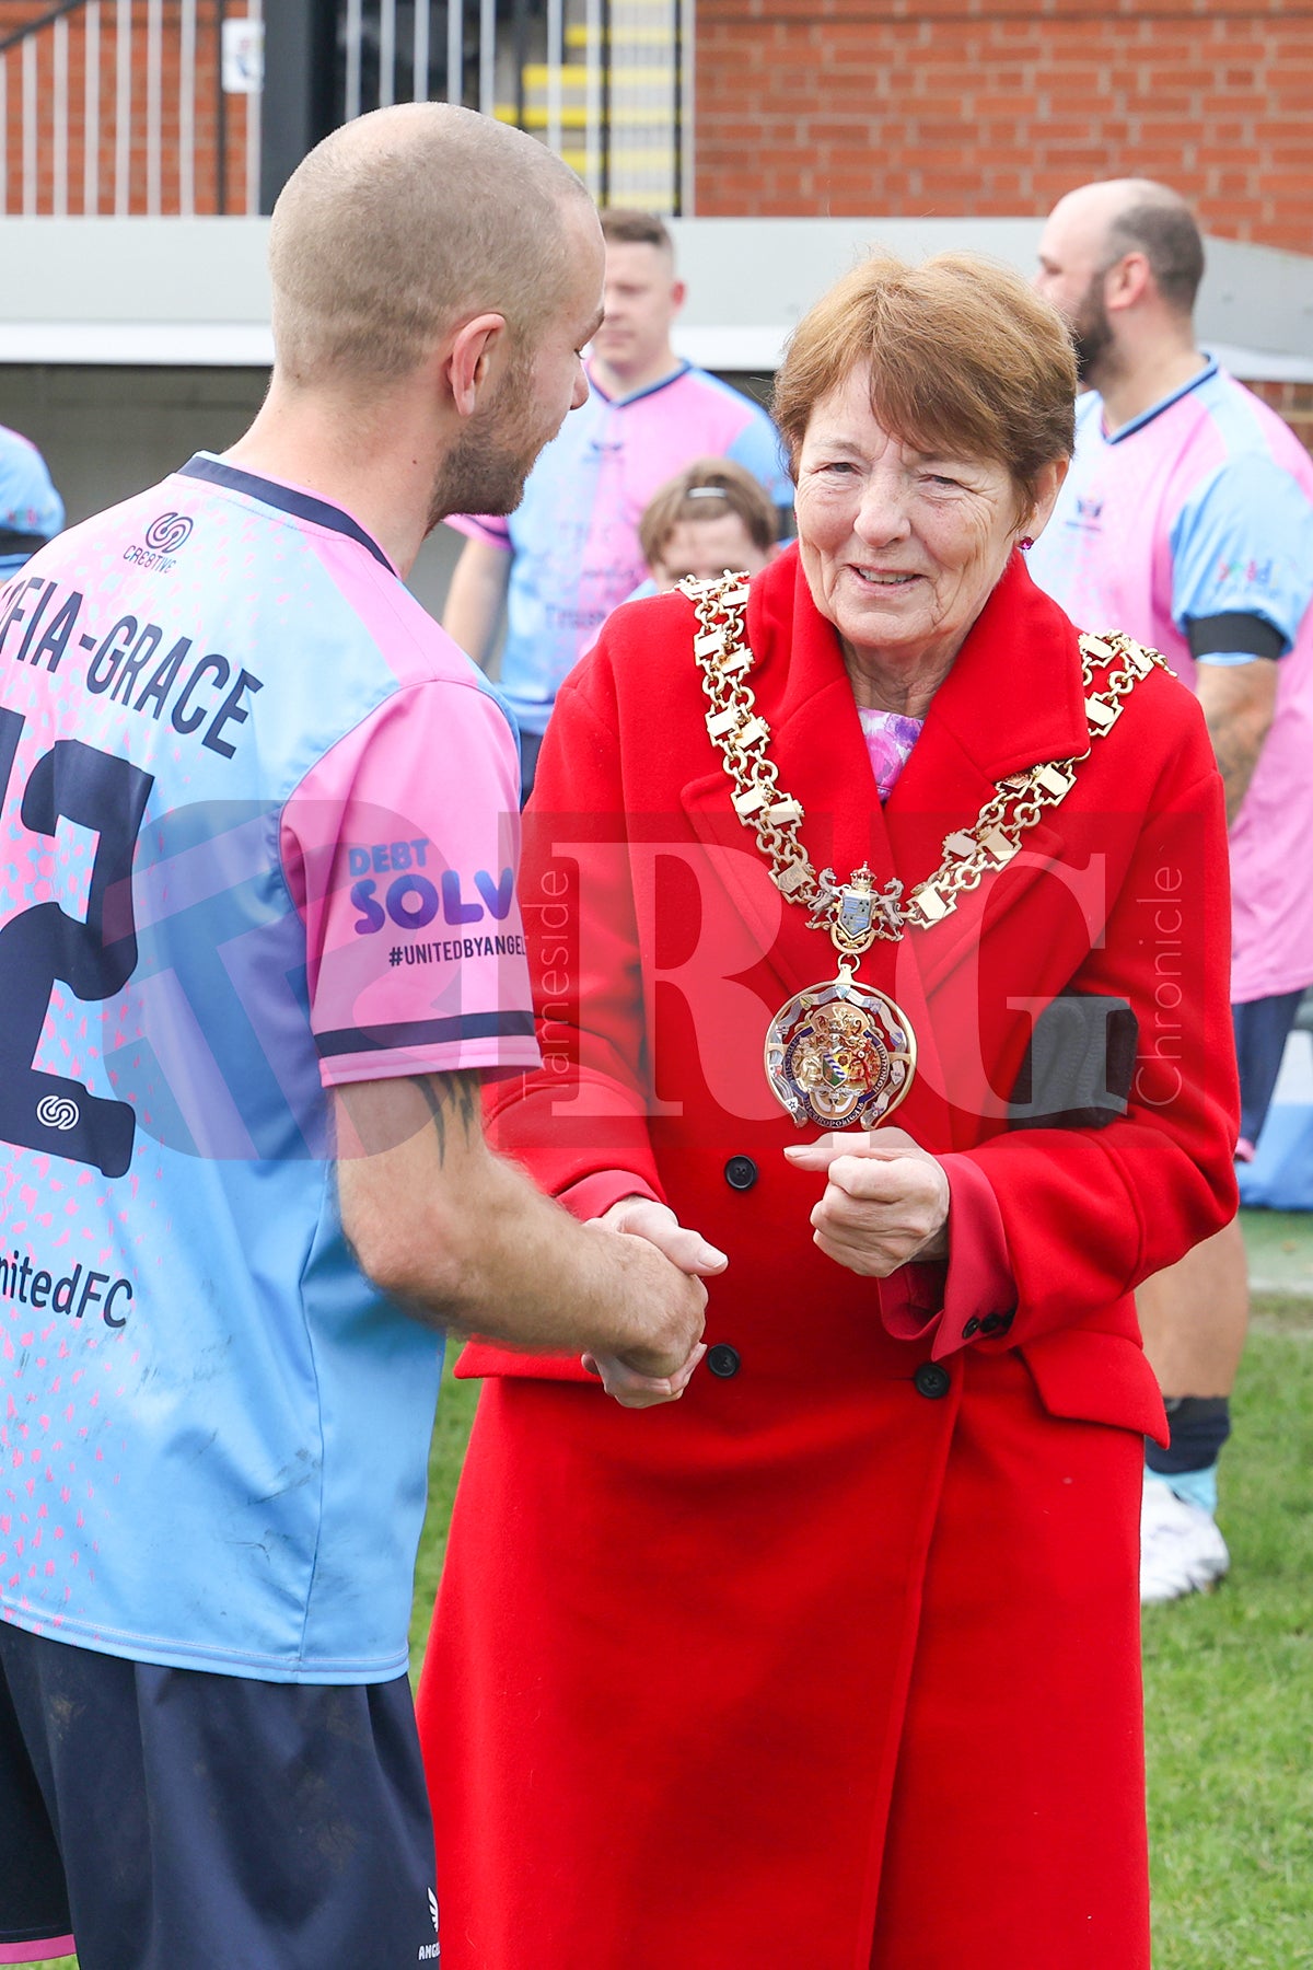
[[[898,942],[907,926],[929,930],[982,877],[1006,869],[1020,851],[1026,829],[1047,808],[1061,806],[1077,782],[1077,766],[1089,758],[1087,747],[1071,758],[1047,760],[998,780],[974,825],[945,835],[941,865],[906,900],[898,879],[876,890],[868,867],[856,869],[848,883],[839,885],[833,869],[819,875],[813,869],[797,837],[803,808],[782,792],[778,766],[768,756],[770,725],[758,713],[748,684],[756,658],[744,642],[746,581],[728,573],[711,581],[687,577],[679,589],[697,611],[693,654],[711,703],[707,731],[734,782],[734,812],[756,833],[776,888],[789,902],[811,910],[807,928],[829,930],[841,955],[850,961],[868,952],[876,938]],[[1124,699],[1156,664],[1169,670],[1157,650],[1146,650],[1130,636],[1081,636],[1091,741],[1112,731]]]

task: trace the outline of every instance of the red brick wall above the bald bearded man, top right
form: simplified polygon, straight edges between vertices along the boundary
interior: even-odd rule
[[[697,213],[1047,213],[1161,177],[1313,252],[1313,6],[697,0]]]

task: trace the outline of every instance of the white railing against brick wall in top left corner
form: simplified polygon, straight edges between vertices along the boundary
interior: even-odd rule
[[[260,0],[0,4],[0,213],[258,211],[258,77],[224,63],[258,26]]]

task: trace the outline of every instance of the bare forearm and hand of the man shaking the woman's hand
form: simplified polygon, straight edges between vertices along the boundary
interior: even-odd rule
[[[390,1091],[388,1143],[378,1147]],[[644,1239],[583,1229],[492,1154],[476,1076],[344,1095],[356,1119],[368,1109],[374,1145],[339,1158],[343,1225],[362,1269],[415,1318],[526,1351],[622,1355],[652,1375],[687,1357],[703,1288]]]

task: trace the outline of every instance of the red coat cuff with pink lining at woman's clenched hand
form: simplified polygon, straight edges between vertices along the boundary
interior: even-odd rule
[[[1004,1221],[988,1176],[970,1156],[941,1156],[949,1178],[949,1261],[904,1265],[880,1280],[880,1318],[900,1342],[933,1336],[941,1361],[967,1342],[1012,1326],[1018,1290]]]

